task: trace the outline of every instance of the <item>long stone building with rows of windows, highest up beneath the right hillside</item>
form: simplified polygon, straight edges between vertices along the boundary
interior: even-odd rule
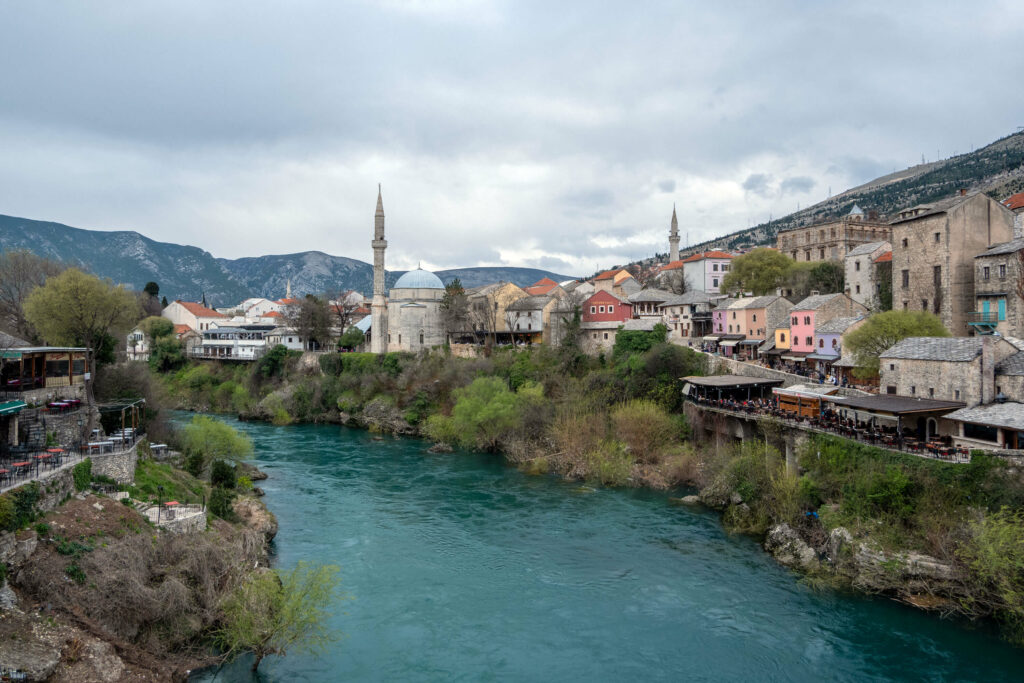
[[[892,230],[857,205],[839,220],[779,230],[776,247],[795,261],[840,261],[860,245],[888,242]]]

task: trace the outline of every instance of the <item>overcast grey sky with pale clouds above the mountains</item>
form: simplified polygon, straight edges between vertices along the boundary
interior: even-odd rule
[[[1024,126],[1024,3],[0,0],[0,213],[588,274]]]

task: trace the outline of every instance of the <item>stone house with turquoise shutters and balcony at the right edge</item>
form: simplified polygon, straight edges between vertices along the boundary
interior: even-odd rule
[[[1024,239],[995,245],[974,257],[975,315],[971,327],[1024,337]]]

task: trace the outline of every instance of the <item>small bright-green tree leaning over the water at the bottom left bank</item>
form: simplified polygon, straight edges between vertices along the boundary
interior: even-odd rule
[[[338,567],[299,562],[291,571],[251,574],[224,602],[217,640],[228,657],[253,653],[256,671],[268,654],[317,653],[335,640],[327,608],[340,597]]]

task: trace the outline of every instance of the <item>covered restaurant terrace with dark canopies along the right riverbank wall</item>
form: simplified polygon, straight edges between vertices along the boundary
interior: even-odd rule
[[[831,396],[781,380],[716,375],[682,378],[686,400],[708,411],[755,421],[770,419],[804,432],[831,434],[899,453],[970,462],[970,450],[933,431],[935,419],[963,408],[957,401],[908,396]],[[798,395],[794,402],[793,394]],[[794,410],[796,407],[796,410]]]

